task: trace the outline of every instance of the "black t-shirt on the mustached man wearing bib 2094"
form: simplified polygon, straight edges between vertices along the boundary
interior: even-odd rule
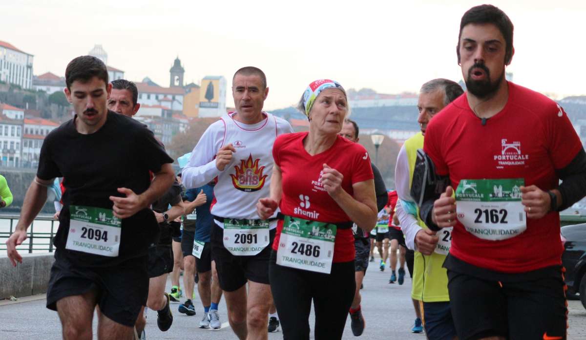
[[[122,220],[118,257],[65,249],[70,205],[112,209],[109,197],[124,197],[118,188],[139,195],[151,183],[149,171],[159,172],[163,164],[173,162],[152,132],[132,118],[108,111],[103,127],[87,135],[77,132],[76,118],[51,131],[40,151],[37,176],[64,177],[63,209],[53,244],[80,266],[111,266],[145,256],[159,229],[150,209]]]

